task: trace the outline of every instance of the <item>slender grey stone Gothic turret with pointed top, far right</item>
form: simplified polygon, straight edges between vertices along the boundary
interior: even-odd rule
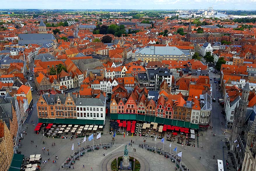
[[[248,96],[250,92],[249,82],[245,84],[242,91],[242,97],[239,100],[239,106],[236,106],[235,113],[234,113],[234,121],[233,121],[233,127],[232,132],[230,136],[230,144],[231,148],[230,150],[233,151],[235,147],[234,141],[237,140],[238,134],[244,134],[244,123],[246,119],[246,110],[248,106]],[[232,148],[233,146],[233,148]]]

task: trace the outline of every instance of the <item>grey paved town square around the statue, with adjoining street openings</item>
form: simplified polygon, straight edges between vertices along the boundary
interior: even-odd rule
[[[211,73],[212,74],[212,73]],[[212,81],[211,81],[212,83]],[[215,90],[215,84],[213,84],[213,90]],[[61,165],[64,161],[66,161],[67,157],[70,157],[70,155],[73,155],[73,151],[71,150],[72,144],[74,143],[74,149],[76,150],[78,148],[78,139],[70,140],[70,139],[53,139],[53,138],[47,138],[45,136],[42,136],[42,134],[36,134],[34,131],[34,127],[32,126],[31,120],[34,120],[34,123],[38,123],[37,118],[37,111],[36,111],[36,101],[38,96],[36,95],[36,91],[33,91],[33,99],[34,99],[34,109],[32,111],[32,115],[29,115],[29,118],[27,120],[27,124],[24,125],[23,130],[25,130],[25,127],[28,127],[27,135],[24,136],[24,139],[21,140],[22,147],[18,149],[18,151],[21,151],[22,154],[25,155],[25,158],[28,158],[31,154],[41,154],[42,160],[47,160],[50,158],[50,161],[48,164],[41,164],[41,170],[42,171],[56,171],[56,170],[69,170],[61,168]],[[213,91],[213,98],[216,96],[215,91]],[[221,125],[221,121],[224,121],[223,115],[220,113],[222,110],[222,107],[218,105],[218,102],[213,103],[213,110],[212,110],[212,118],[211,118],[211,126],[213,126],[213,129],[208,129],[207,131],[199,131],[199,138],[198,138],[198,144],[197,147],[197,137],[196,137],[196,146],[190,147],[190,146],[181,146],[181,144],[172,143],[172,150],[171,153],[173,153],[173,149],[177,146],[179,151],[182,151],[182,164],[185,164],[187,168],[190,169],[190,171],[208,171],[208,170],[216,170],[216,160],[226,160],[227,159],[227,148],[222,149],[222,146],[224,146],[225,136],[222,134],[223,131],[225,131],[225,125]],[[104,128],[104,134],[101,135],[101,141],[102,143],[110,143],[112,138],[111,134],[109,134],[109,127],[110,127],[110,115],[107,115],[106,119],[106,125]],[[201,133],[203,134],[201,136]],[[216,137],[213,137],[213,133],[216,134]],[[71,134],[69,134],[70,136]],[[139,136],[125,136],[122,135],[116,135],[115,138],[115,144],[107,149],[100,149],[99,151],[94,150],[94,152],[88,152],[86,155],[84,155],[81,160],[77,161],[74,165],[75,170],[82,169],[83,164],[85,164],[85,170],[90,170],[91,167],[93,167],[93,170],[101,171],[102,164],[104,162],[105,158],[108,158],[112,153],[118,153],[123,152],[123,146],[124,143],[127,144],[129,153],[133,153],[133,148],[129,146],[129,142],[131,142],[131,139],[134,141],[134,147],[136,148],[136,154],[142,156],[145,158],[150,166],[149,171],[151,170],[159,170],[159,168],[163,168],[162,170],[173,170],[174,164],[171,163],[170,160],[167,160],[164,158],[164,156],[160,156],[159,154],[155,154],[149,151],[146,151],[145,148],[141,149],[138,147],[138,144],[143,141],[143,137]],[[80,138],[80,142],[81,142]],[[31,143],[31,140],[34,141],[34,143]],[[45,141],[45,144],[43,144],[42,141]],[[55,142],[56,146],[52,147],[52,143]],[[94,137],[94,144],[99,144],[100,140],[96,139]],[[116,144],[118,143],[118,144]],[[143,144],[143,142],[142,142]],[[155,146],[155,141],[152,141],[152,138],[148,138],[146,141],[146,144],[150,146]],[[92,145],[92,141],[88,141],[87,139],[87,145]],[[164,150],[170,151],[170,142],[165,141],[164,144]],[[203,149],[200,148],[200,145],[203,146]],[[37,146],[37,148],[36,148]],[[81,144],[81,147],[84,147],[85,143]],[[45,154],[43,154],[42,148],[45,147],[46,149],[49,148],[49,156],[47,151],[45,151]],[[163,143],[160,139],[157,139],[157,147],[163,148]],[[105,152],[105,157],[102,155]],[[58,156],[58,160],[55,159],[55,155]],[[213,155],[215,155],[215,159],[213,159]],[[201,157],[201,160],[199,160],[199,157]],[[52,162],[52,160],[56,160],[56,164]],[[71,167],[72,169],[72,167]]]

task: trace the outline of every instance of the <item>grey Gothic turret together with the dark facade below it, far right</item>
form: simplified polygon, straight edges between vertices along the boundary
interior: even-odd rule
[[[246,140],[248,129],[247,125],[250,123],[247,120],[246,111],[248,107],[248,97],[250,93],[249,82],[245,84],[242,90],[242,96],[239,100],[239,106],[236,106],[234,113],[234,122],[230,136],[230,151],[233,153],[236,163],[236,168],[242,169],[243,160],[246,152]]]

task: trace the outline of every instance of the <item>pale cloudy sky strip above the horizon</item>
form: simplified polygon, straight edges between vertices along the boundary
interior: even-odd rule
[[[244,9],[256,0],[8,0],[0,8],[36,9]],[[8,3],[7,3],[8,2]]]

